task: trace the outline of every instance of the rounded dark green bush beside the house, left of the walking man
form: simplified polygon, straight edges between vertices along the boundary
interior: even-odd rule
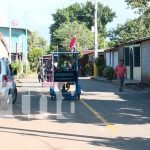
[[[103,76],[106,77],[108,80],[113,79],[114,69],[113,67],[106,67],[103,70]]]

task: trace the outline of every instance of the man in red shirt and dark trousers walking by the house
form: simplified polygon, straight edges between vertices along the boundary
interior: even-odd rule
[[[122,92],[123,91],[124,79],[127,78],[127,69],[124,66],[124,61],[123,60],[119,60],[119,64],[115,67],[114,77],[115,76],[117,76],[117,78],[120,81],[119,91]]]

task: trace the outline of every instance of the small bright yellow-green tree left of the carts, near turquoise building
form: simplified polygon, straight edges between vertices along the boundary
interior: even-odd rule
[[[42,49],[33,48],[28,53],[28,60],[32,71],[36,71],[38,67],[39,58],[42,56]]]

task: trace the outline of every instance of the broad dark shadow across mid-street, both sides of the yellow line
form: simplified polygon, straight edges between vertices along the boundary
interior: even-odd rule
[[[114,92],[120,100],[108,97],[107,93],[112,93],[117,86],[110,83],[101,83],[96,80],[80,80],[80,84],[83,91],[90,93],[89,97],[84,95],[84,101],[93,107],[100,115],[102,115],[108,122],[112,124],[146,124],[150,123],[150,94],[139,93],[118,93]],[[105,92],[106,95],[101,97],[100,94],[92,92]],[[38,119],[35,117],[41,113],[40,110],[40,98],[42,95],[46,95],[47,98],[47,110],[42,113],[47,113],[47,119],[59,122],[59,123],[83,123],[83,124],[96,124],[104,125],[95,115],[93,115],[80,101],[62,101],[61,106],[58,108],[57,101],[51,101],[48,91],[40,92],[36,89],[30,91],[30,114],[33,117],[28,117],[22,112],[22,96],[27,95],[27,92],[20,92],[18,95],[17,103],[13,106],[13,114],[15,118],[21,121],[32,121]],[[94,97],[97,99],[94,99]],[[81,96],[82,98],[82,96]],[[75,106],[74,112],[71,111],[71,106]],[[60,109],[58,112],[57,109]],[[58,116],[62,113],[65,119],[58,119]]]

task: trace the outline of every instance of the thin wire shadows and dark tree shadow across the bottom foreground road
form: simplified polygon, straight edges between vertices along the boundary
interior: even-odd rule
[[[103,146],[107,148],[117,148],[121,150],[148,150],[150,147],[150,138],[140,138],[140,137],[117,137],[117,138],[104,138],[96,136],[87,136],[81,134],[69,134],[61,132],[48,132],[39,130],[29,130],[22,128],[9,128],[0,127],[1,133],[11,133],[19,134],[25,136],[35,136],[35,137],[46,137],[51,139],[68,140],[68,141],[80,141],[89,143],[94,146]]]

